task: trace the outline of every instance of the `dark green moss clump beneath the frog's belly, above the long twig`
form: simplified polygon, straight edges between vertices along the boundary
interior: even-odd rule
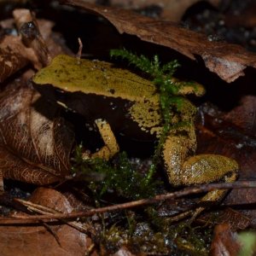
[[[82,174],[89,182],[89,188],[99,200],[109,191],[127,200],[137,200],[156,195],[160,182],[148,182],[147,174],[138,172],[131,165],[125,152],[119,153],[113,161],[102,159],[84,160],[81,146],[76,149],[73,172]],[[88,180],[88,177],[97,177]],[[101,177],[101,178],[98,178]]]

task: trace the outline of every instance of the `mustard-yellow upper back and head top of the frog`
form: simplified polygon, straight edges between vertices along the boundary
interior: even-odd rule
[[[36,74],[33,81],[36,84],[52,84],[69,92],[81,91],[134,102],[147,100],[159,103],[151,81],[104,61],[58,55],[48,67]]]

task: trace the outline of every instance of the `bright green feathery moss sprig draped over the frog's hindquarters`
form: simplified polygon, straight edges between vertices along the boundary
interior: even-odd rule
[[[147,73],[152,79],[153,83],[157,87],[160,94],[160,110],[163,119],[163,131],[160,136],[159,143],[157,144],[153,156],[153,165],[148,172],[148,180],[153,176],[156,166],[160,160],[160,154],[163,144],[166,141],[168,132],[173,126],[177,125],[173,123],[173,116],[179,115],[180,122],[190,122],[192,116],[195,114],[195,107],[189,103],[189,112],[185,109],[188,100],[183,96],[182,91],[186,86],[194,86],[194,84],[187,84],[179,82],[177,79],[173,79],[173,74],[176,72],[177,67],[180,64],[177,60],[170,61],[164,65],[160,64],[158,55],[154,55],[153,60],[149,60],[145,55],[135,55],[126,49],[111,49],[110,55],[112,57],[121,57],[129,61],[130,64],[139,68],[144,73]],[[195,88],[193,90],[197,90]],[[184,113],[186,111],[186,113]],[[186,120],[183,120],[185,117]]]

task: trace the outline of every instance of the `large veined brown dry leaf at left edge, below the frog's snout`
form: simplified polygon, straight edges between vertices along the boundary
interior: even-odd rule
[[[73,132],[32,88],[14,84],[0,95],[0,132],[3,177],[46,184],[69,173]]]

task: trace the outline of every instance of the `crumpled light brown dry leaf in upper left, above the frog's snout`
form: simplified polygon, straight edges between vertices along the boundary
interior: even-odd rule
[[[5,35],[0,44],[0,83],[9,78],[10,75],[32,63],[36,69],[45,66],[51,57],[61,53],[70,54],[70,50],[63,45],[60,35],[52,32],[54,23],[49,20],[36,20],[27,9],[16,9],[15,20],[2,20],[1,26],[5,29],[15,30],[23,26],[23,38],[14,35]],[[36,25],[32,30],[31,22]],[[33,33],[31,35],[30,33]],[[24,44],[24,37],[32,37],[31,41]],[[33,38],[34,37],[34,38]]]

